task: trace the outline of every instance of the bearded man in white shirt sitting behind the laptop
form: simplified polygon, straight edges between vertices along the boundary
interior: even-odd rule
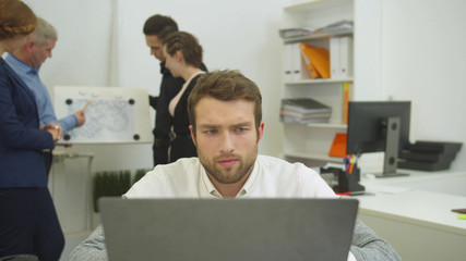
[[[258,156],[264,132],[258,86],[236,71],[204,74],[188,100],[198,158],[157,165],[127,198],[334,198],[318,173],[301,163]],[[99,226],[69,260],[107,260]],[[401,260],[357,221],[348,260]]]

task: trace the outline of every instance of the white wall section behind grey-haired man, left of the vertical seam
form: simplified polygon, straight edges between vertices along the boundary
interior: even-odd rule
[[[40,76],[55,85],[107,85],[112,0],[24,0],[58,30],[52,59]]]

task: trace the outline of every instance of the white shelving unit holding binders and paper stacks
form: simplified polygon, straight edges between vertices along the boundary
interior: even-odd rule
[[[353,0],[322,0],[286,7],[282,28],[311,27],[320,28],[339,21],[354,20]],[[355,23],[356,25],[356,23]],[[333,37],[349,36],[354,39],[353,29],[343,29],[332,34],[312,34],[304,37],[284,39],[285,45],[307,42],[323,47],[330,51]],[[353,51],[353,50],[351,50]],[[289,54],[285,53],[284,55]],[[301,62],[302,63],[302,62]],[[285,70],[284,70],[285,71]],[[301,71],[306,65],[301,64]],[[292,80],[284,75],[283,98],[312,98],[332,108],[330,123],[319,124],[283,124],[283,157],[289,161],[306,161],[308,165],[319,166],[326,162],[340,163],[340,158],[330,157],[328,150],[337,133],[346,133],[344,124],[343,85],[350,84],[349,96],[354,91],[354,78],[310,78],[301,73],[300,78]]]

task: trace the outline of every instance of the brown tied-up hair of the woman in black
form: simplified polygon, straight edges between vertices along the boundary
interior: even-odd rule
[[[180,50],[187,64],[201,67],[202,47],[195,36],[187,32],[175,32],[163,38],[163,44],[168,54],[174,55]]]

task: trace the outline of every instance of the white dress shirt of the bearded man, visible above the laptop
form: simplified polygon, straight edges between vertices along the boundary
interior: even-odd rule
[[[157,165],[124,195],[128,198],[222,198],[198,158]],[[246,198],[336,198],[313,170],[301,163],[258,156],[254,169],[236,196]]]

